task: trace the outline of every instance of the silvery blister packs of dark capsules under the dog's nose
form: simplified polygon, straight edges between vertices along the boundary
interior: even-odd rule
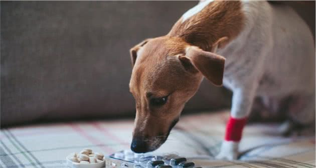
[[[133,162],[137,168],[201,168],[193,161],[177,153],[166,153],[163,155],[138,154],[131,151],[119,151],[110,155],[111,158],[125,160],[120,167],[130,167],[128,163]]]

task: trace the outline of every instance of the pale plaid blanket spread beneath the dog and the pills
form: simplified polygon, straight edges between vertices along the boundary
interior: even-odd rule
[[[155,153],[176,151],[204,167],[315,167],[314,135],[282,137],[276,134],[277,124],[246,125],[241,160],[213,159],[228,116],[228,111],[183,116]],[[67,167],[66,156],[85,147],[104,154],[128,149],[132,129],[132,119],[4,128],[0,134],[0,167]]]

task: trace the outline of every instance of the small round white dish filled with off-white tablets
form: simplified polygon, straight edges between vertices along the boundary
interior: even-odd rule
[[[79,153],[70,153],[67,157],[67,165],[72,168],[103,168],[105,167],[104,154],[93,152],[84,148]]]

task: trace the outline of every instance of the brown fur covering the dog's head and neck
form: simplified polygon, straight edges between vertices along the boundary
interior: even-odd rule
[[[238,35],[243,26],[241,2],[214,1],[171,31],[146,39],[130,49],[133,64],[129,83],[136,101],[134,139],[151,151],[168,137],[185,103],[196,93],[203,75],[222,84],[225,58],[212,52]],[[152,97],[168,96],[163,106],[150,106]]]

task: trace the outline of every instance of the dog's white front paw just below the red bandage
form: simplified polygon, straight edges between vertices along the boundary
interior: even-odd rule
[[[236,160],[238,158],[238,145],[239,142],[223,141],[221,150],[215,158],[222,160]]]

